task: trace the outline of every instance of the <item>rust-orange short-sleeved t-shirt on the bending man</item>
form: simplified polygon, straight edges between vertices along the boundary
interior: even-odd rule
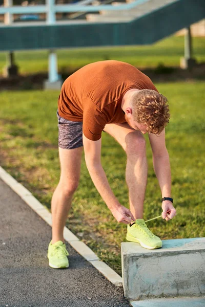
[[[107,123],[125,122],[121,101],[130,89],[157,91],[150,78],[131,64],[115,60],[88,64],[65,80],[59,115],[83,121],[84,135],[97,141]]]

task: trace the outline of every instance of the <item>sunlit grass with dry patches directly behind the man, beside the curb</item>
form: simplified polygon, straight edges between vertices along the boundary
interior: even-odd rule
[[[172,195],[177,215],[166,222],[149,222],[161,239],[203,237],[205,202],[204,82],[156,84],[169,98],[171,120],[166,128],[172,168]],[[1,165],[50,209],[60,170],[57,150],[58,91],[24,91],[1,94]],[[147,136],[146,136],[146,140]],[[149,163],[144,218],[161,214],[161,193]],[[126,155],[108,134],[103,134],[102,163],[114,194],[128,206],[125,183]],[[118,224],[96,191],[82,158],[79,187],[74,195],[67,226],[120,273],[120,243],[126,225]]]

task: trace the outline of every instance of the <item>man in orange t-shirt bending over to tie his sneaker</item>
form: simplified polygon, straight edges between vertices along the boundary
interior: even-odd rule
[[[58,99],[60,180],[53,194],[52,241],[48,258],[52,268],[67,268],[63,229],[79,176],[83,147],[95,187],[117,222],[128,226],[127,240],[142,247],[162,246],[143,220],[147,158],[143,134],[149,133],[153,166],[161,189],[162,218],[175,216],[171,199],[171,170],[165,144],[169,122],[167,98],[132,65],[108,60],[86,65],[64,82]],[[115,198],[100,163],[101,133],[110,134],[127,153],[126,182],[130,210]]]

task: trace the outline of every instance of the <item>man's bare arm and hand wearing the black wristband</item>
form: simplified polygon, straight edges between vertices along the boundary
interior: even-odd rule
[[[161,196],[162,198],[171,197],[171,167],[165,142],[165,130],[162,131],[160,136],[149,134],[149,140],[153,153],[153,167],[161,189]],[[162,209],[163,218],[166,217],[166,213],[169,211],[170,215],[166,217],[167,221],[176,215],[176,210],[170,201],[163,201]]]

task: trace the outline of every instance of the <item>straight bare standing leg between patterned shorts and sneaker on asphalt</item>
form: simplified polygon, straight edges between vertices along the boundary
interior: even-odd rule
[[[71,208],[72,197],[79,182],[82,151],[83,147],[75,149],[59,147],[60,181],[51,201],[52,244],[59,240],[64,242],[63,231]]]

